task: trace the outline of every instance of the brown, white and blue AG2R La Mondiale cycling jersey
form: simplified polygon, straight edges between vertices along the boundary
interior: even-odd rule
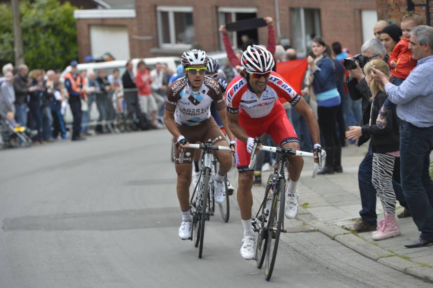
[[[174,112],[177,124],[194,126],[209,119],[212,101],[218,111],[226,109],[218,82],[206,76],[200,89],[193,91],[184,76],[170,86],[166,110]]]

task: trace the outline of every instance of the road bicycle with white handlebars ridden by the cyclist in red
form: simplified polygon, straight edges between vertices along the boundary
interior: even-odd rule
[[[258,140],[255,140],[253,151],[262,150],[277,153],[277,166],[274,168],[274,173],[269,175],[263,201],[256,216],[252,219],[253,230],[257,232],[255,251],[257,268],[260,269],[263,262],[265,262],[264,275],[265,279],[269,281],[277,257],[280,233],[287,232],[284,229],[285,167],[287,164],[290,164],[290,156],[302,156],[314,159],[314,154],[290,148],[257,147],[257,145]],[[320,154],[320,151],[318,153]],[[249,169],[254,169],[255,158],[256,154],[252,153]],[[314,164],[313,178],[316,177],[317,171],[321,169],[321,162],[322,159],[319,157],[319,163]]]

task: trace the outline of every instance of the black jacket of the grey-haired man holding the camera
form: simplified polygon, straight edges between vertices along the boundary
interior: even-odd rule
[[[361,125],[368,124],[370,120],[371,108],[371,91],[368,87],[367,81],[363,78],[359,83],[356,78],[347,78],[347,88],[349,90],[350,98],[354,101],[362,99],[362,120]],[[370,135],[362,135],[358,140],[358,146],[361,146],[370,139]]]

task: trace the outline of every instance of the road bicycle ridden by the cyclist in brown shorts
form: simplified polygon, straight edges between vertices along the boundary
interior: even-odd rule
[[[194,246],[199,247],[199,258],[201,258],[203,253],[205,223],[210,219],[210,216],[214,214],[215,210],[215,201],[213,198],[213,173],[217,173],[218,171],[218,160],[213,155],[212,150],[224,150],[231,152],[231,148],[226,146],[212,145],[211,141],[207,141],[205,144],[188,144],[186,147],[203,150],[201,160],[202,165],[199,172],[200,176],[190,200],[191,214],[193,216],[191,240],[194,241]],[[183,150],[181,150],[179,155],[179,163],[183,162],[183,153]],[[224,178],[224,185],[226,189],[225,201],[219,204],[219,206],[223,220],[227,222],[229,218],[227,175]]]

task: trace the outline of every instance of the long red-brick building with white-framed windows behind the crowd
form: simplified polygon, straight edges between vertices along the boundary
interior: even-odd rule
[[[219,25],[265,16],[274,18],[277,42],[290,41],[301,55],[308,51],[315,35],[323,36],[328,43],[340,41],[357,53],[363,41],[373,37],[372,27],[377,20],[376,0],[136,0],[133,3],[133,9],[75,11],[80,61],[105,52],[117,59],[179,56],[193,44],[206,51],[223,50]],[[267,42],[267,30],[260,28],[230,35],[234,46],[240,44],[242,34],[258,43]]]

